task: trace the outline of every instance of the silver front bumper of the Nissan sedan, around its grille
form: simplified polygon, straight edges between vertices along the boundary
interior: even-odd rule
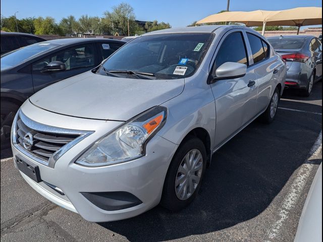
[[[94,131],[59,158],[53,168],[36,162],[12,145],[14,157],[18,155],[23,160],[37,165],[41,179],[63,192],[63,195],[58,193],[43,181],[36,183],[21,172],[27,183],[39,194],[93,222],[134,217],[159,203],[166,173],[178,145],[155,135],[146,146],[146,155],[139,159],[109,166],[84,167],[74,163],[75,158],[109,132],[112,126],[118,126],[121,122],[110,123],[103,120],[68,117],[42,110],[30,103],[25,103],[21,110],[38,123],[55,126],[55,120],[60,120],[58,123],[62,124],[60,128],[71,129],[75,124],[75,129]],[[15,166],[17,167],[16,163]],[[142,203],[121,210],[104,210],[82,195],[82,193],[106,192],[130,193]]]

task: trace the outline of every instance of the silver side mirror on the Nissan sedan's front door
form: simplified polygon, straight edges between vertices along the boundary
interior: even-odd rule
[[[236,62],[226,62],[222,64],[216,70],[215,79],[233,79],[238,77],[243,77],[247,73],[247,65],[236,63]]]

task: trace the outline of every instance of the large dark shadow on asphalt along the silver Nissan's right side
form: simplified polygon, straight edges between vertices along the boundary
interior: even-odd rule
[[[161,241],[252,219],[304,162],[320,130],[320,115],[279,109],[274,123],[253,122],[213,155],[199,194],[186,209],[172,213],[157,206],[134,218],[99,225],[130,241]]]

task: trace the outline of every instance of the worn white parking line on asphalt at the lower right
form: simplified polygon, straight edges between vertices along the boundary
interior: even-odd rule
[[[267,231],[263,241],[277,241],[280,236],[280,230],[289,217],[289,213],[294,209],[299,196],[306,184],[306,181],[310,175],[313,168],[313,164],[310,160],[317,157],[322,151],[322,131],[319,133],[314,145],[312,146],[308,158],[305,160],[304,164],[299,169],[297,176],[290,188],[290,191],[285,196],[284,201],[278,212],[278,219],[272,224],[271,228]]]

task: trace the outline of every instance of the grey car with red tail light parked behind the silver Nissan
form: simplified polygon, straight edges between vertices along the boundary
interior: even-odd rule
[[[315,36],[291,35],[267,40],[286,61],[286,87],[301,89],[309,96],[313,84],[322,78],[322,43]]]

